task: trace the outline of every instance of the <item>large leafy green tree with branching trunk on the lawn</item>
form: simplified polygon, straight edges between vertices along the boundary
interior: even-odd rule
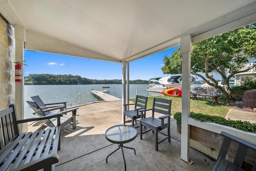
[[[235,74],[246,72],[256,65],[244,69],[248,56],[256,56],[256,24],[250,24],[230,32],[214,36],[193,44],[191,54],[191,74],[202,78],[207,84],[220,90],[226,99],[230,96],[229,80]],[[228,76],[226,72],[228,71]],[[164,56],[164,74],[181,74],[182,57],[180,48],[174,51],[170,58]],[[204,73],[205,76],[199,74]],[[212,78],[212,72],[219,74],[224,82],[224,88]]]

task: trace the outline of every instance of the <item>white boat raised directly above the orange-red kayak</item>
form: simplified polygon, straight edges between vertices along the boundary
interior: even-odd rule
[[[194,84],[196,78],[190,76],[190,84]],[[166,87],[180,87],[182,85],[182,75],[168,76],[158,80],[158,82]]]

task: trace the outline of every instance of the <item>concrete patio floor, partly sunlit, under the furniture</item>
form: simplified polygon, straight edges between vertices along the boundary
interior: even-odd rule
[[[71,115],[70,113],[68,113]],[[147,113],[151,115],[151,113]],[[105,138],[105,131],[122,121],[122,101],[101,101],[79,106],[76,115],[76,129],[66,126],[61,132],[61,149],[58,151],[59,162],[56,171],[120,171],[124,170],[122,151],[118,150],[106,163],[106,157],[118,148]],[[126,123],[131,125],[131,123]],[[137,123],[138,124],[138,123]],[[45,126],[32,123],[29,131],[43,129]],[[139,128],[137,128],[139,133]],[[160,135],[159,135],[160,136]],[[211,171],[215,161],[206,155],[190,148],[192,165],[180,159],[180,135],[176,133],[176,120],[171,121],[171,142],[160,143],[158,151],[154,149],[154,134],[143,134],[140,140],[126,143],[125,146],[136,149],[136,155],[131,149],[124,148],[127,171]]]

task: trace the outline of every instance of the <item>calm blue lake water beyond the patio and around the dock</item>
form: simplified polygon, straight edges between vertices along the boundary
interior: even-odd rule
[[[70,106],[73,99],[78,93],[81,97],[85,93],[89,93],[89,102],[98,101],[92,94],[92,89],[101,90],[102,87],[110,87],[110,95],[122,99],[122,84],[95,84],[95,85],[24,85],[24,117],[33,117],[33,110],[28,107],[27,100],[31,101],[30,97],[39,95],[44,103],[54,103],[67,101],[67,106]],[[148,84],[130,84],[130,98],[136,97],[136,89],[138,95],[154,96],[159,93],[148,92],[146,87]],[[72,103],[72,106],[78,105],[79,97]],[[84,97],[81,104],[88,103],[88,95]]]

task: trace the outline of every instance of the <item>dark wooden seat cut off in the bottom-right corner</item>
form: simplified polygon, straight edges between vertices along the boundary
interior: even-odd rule
[[[249,143],[247,141],[244,141],[243,139],[240,139],[238,137],[235,137],[233,135],[230,135],[229,133],[226,133],[222,131],[220,133],[224,136],[224,140],[222,142],[220,152],[217,157],[217,162],[214,165],[214,168],[212,171],[244,171],[244,160],[246,158],[246,154],[252,153],[256,154],[256,145]],[[238,143],[238,148],[236,151],[236,155],[234,157],[234,161],[228,161],[226,159],[226,155],[232,145],[232,142]],[[252,171],[256,171],[256,161],[253,161],[254,165],[252,166]]]

